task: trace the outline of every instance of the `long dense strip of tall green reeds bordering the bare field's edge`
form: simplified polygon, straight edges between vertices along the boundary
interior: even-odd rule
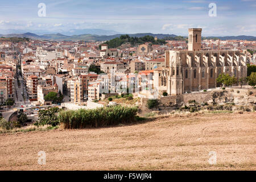
[[[135,121],[137,107],[111,106],[98,109],[60,111],[58,119],[65,129],[101,127]]]

